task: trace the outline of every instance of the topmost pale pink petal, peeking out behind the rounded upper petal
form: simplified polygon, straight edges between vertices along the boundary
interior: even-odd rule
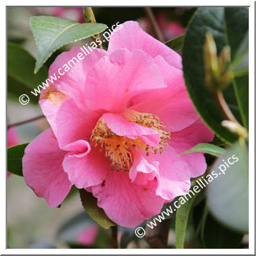
[[[118,48],[127,48],[130,51],[140,49],[153,58],[162,56],[171,66],[182,69],[180,55],[142,31],[138,23],[134,21],[123,23],[122,28],[110,36],[108,52],[114,52]]]

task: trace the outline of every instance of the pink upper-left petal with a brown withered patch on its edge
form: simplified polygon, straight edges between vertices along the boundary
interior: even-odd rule
[[[39,100],[43,114],[56,134],[60,147],[88,137],[89,130],[93,126],[93,118],[97,117],[97,113],[93,113],[86,106],[85,80],[93,64],[107,53],[95,49],[85,56],[84,60],[79,60],[77,55],[81,52],[80,47],[72,47],[70,52],[63,52],[57,56],[49,69],[50,79],[51,76],[60,76],[59,68],[62,68],[60,72],[63,73],[63,67],[68,65],[68,61],[72,68],[69,66],[70,70],[65,72],[64,76],[60,76],[57,81],[52,79],[53,83],[48,82],[49,87],[42,90]],[[73,59],[74,57],[76,59]]]

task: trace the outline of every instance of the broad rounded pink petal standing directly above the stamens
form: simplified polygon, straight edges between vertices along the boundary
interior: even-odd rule
[[[93,66],[86,80],[85,98],[90,109],[118,113],[134,95],[164,87],[151,56],[140,50],[119,49]]]

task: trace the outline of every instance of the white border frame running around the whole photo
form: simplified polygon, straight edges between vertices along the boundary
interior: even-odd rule
[[[5,1],[4,5],[1,6],[0,19],[1,26],[3,30],[6,31],[6,6],[20,6],[18,0]],[[35,6],[35,1],[23,0],[23,6]],[[43,6],[70,6],[65,4],[63,1],[52,1],[52,0],[44,0]],[[74,0],[72,2],[72,6],[84,6],[87,4],[88,6],[105,6],[104,1],[77,1]],[[156,6],[156,1],[152,0],[130,0],[127,3],[118,2],[118,1],[108,1],[109,6]],[[249,220],[250,220],[250,228],[249,228],[249,249],[6,249],[6,171],[1,172],[1,192],[0,192],[0,205],[2,205],[1,209],[1,229],[0,229],[0,254],[254,254],[254,1],[244,0],[244,1],[233,1],[233,0],[215,0],[213,1],[202,1],[202,0],[194,0],[185,1],[179,0],[176,1],[163,1],[158,0],[158,6],[204,6],[208,4],[209,6],[250,6],[249,8],[249,51],[250,51],[250,71],[249,71],[249,81],[250,81],[250,93],[249,93],[249,102],[250,102],[250,144],[249,144],[249,170],[250,170],[250,184],[249,184],[249,195],[250,195],[250,207],[249,207]],[[178,4],[175,4],[178,3]],[[2,31],[3,31],[2,30]],[[6,35],[6,34],[4,34]],[[6,67],[6,39],[1,40],[1,52],[2,52],[2,62],[5,62]],[[4,65],[4,64],[3,64]],[[2,86],[0,86],[0,92],[2,95],[2,101],[0,101],[0,114],[2,120],[6,120],[6,68],[1,68],[1,77],[3,77]],[[5,110],[5,111],[4,111]],[[6,126],[2,125],[0,130],[1,136],[1,162],[5,163],[6,170],[6,141],[3,138],[6,134]]]

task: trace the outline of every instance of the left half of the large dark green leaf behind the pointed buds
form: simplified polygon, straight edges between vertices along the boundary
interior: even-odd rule
[[[201,7],[188,25],[184,39],[183,67],[188,93],[204,122],[225,142],[236,140],[221,122],[225,119],[213,94],[204,83],[204,39],[207,31],[213,34],[219,53],[225,47],[224,9],[222,7]]]

